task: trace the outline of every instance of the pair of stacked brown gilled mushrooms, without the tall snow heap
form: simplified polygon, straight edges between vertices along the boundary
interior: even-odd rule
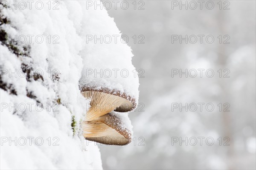
[[[81,94],[90,99],[90,108],[82,122],[84,138],[109,145],[129,144],[132,134],[125,124],[131,124],[131,122],[122,120],[116,112],[134,110],[135,99],[107,89],[82,88]]]

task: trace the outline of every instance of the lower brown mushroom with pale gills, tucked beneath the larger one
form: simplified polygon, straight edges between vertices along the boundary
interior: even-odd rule
[[[108,113],[96,120],[82,122],[83,136],[102,144],[126,145],[131,142],[132,135],[122,124],[119,117]]]

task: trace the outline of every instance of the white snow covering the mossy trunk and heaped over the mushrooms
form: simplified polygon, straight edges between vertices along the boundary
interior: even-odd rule
[[[48,1],[41,2],[48,7]],[[38,10],[33,6],[23,10],[1,9],[1,14],[10,21],[2,29],[12,38],[27,38],[24,44],[17,45],[20,52],[25,53],[23,47],[30,47],[30,57],[17,57],[0,45],[0,68],[7,71],[1,71],[1,80],[17,94],[0,89],[1,169],[102,169],[99,148],[81,135],[79,122],[84,119],[86,103],[90,101],[80,94],[79,80],[80,86],[115,89],[138,100],[139,82],[131,64],[131,48],[121,42],[86,43],[88,34],[120,36],[113,18],[104,8],[85,10],[86,1],[58,2],[58,10]],[[31,42],[27,35],[34,35]],[[42,43],[37,43],[37,35],[44,38]],[[54,44],[55,40],[58,43]],[[40,73],[42,79],[31,77],[27,81],[22,64],[33,68],[32,75]],[[127,69],[129,75],[86,78],[86,69]],[[16,106],[17,111],[11,106]],[[76,122],[75,134],[72,117]],[[128,122],[128,116],[122,120]],[[130,124],[126,125],[129,130]],[[40,140],[36,141],[37,138]],[[22,146],[24,139],[26,144]],[[39,145],[41,139],[43,144]],[[9,143],[10,140],[17,144]]]

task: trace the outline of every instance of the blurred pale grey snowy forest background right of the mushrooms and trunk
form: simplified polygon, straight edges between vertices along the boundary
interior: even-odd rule
[[[198,1],[195,9],[191,1],[126,2],[126,10],[126,3],[123,8],[119,3],[108,13],[129,37],[132,62],[142,69],[140,105],[129,113],[131,144],[99,144],[103,168],[255,169],[256,1],[212,1],[214,8],[203,1],[201,9]],[[175,35],[198,40],[192,36],[180,43]],[[198,35],[204,35],[202,42]],[[212,43],[207,35],[214,37]],[[174,69],[188,69],[188,76]],[[205,69],[202,77],[198,69]],[[206,76],[207,69],[214,76]],[[186,103],[187,111],[181,107]],[[191,103],[204,105],[200,110],[189,108]]]

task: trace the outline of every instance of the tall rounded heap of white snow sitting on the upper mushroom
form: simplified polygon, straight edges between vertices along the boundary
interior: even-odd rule
[[[110,91],[119,91],[121,94],[131,96],[137,103],[139,79],[131,62],[133,57],[131,48],[121,42],[122,34],[116,27],[113,18],[108,16],[107,10],[89,8],[86,12],[87,15],[84,16],[81,23],[83,28],[81,35],[84,37],[84,42],[80,54],[84,67],[80,87],[89,87],[95,90],[107,88]],[[90,15],[95,17],[89,18]],[[113,35],[118,36],[116,41]],[[104,40],[100,43],[100,40],[97,40],[95,43],[95,38],[101,36],[102,39],[105,36],[110,36],[112,40],[109,43],[105,43]],[[89,37],[93,40],[89,40]]]

